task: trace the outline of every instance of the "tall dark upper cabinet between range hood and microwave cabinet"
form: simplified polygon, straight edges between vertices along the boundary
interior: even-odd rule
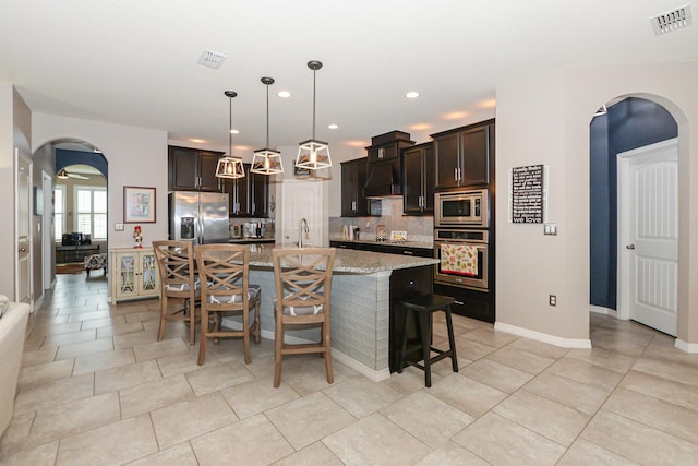
[[[402,212],[434,212],[434,150],[431,142],[402,150]]]

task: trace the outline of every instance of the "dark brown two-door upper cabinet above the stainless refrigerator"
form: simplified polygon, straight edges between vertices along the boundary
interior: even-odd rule
[[[168,146],[170,191],[220,191],[216,167],[221,152]]]

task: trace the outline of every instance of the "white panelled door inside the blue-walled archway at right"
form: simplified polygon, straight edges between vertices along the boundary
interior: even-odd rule
[[[618,315],[676,336],[678,141],[618,154]]]

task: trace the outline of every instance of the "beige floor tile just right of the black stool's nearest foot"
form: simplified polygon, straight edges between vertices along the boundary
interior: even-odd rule
[[[435,382],[429,389],[429,394],[476,418],[508,396],[461,374],[453,374]]]

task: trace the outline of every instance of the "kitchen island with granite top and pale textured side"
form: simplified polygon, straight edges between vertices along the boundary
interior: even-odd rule
[[[262,287],[262,336],[274,339],[275,295],[272,250],[278,244],[250,246],[250,283]],[[337,249],[332,285],[333,358],[371,380],[395,368],[401,330],[394,304],[407,296],[432,291],[432,258]],[[232,323],[229,323],[232,325]],[[291,338],[317,340],[313,330],[289,332]],[[287,336],[288,338],[288,336]]]

